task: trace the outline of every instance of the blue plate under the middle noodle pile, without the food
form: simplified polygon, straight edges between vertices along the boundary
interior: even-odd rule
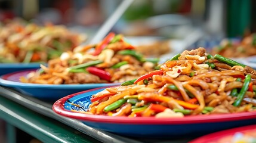
[[[0,77],[0,85],[14,88],[25,95],[29,95],[44,100],[58,100],[66,95],[76,92],[85,91],[87,89],[98,88],[110,85],[120,85],[120,83],[91,83],[77,85],[42,85],[34,83],[21,83],[21,76],[26,77],[27,74],[35,70],[17,71],[14,73],[4,74]]]

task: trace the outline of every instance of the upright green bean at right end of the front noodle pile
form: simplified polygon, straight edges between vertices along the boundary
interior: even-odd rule
[[[245,96],[245,92],[249,88],[249,83],[250,82],[251,82],[251,75],[247,74],[245,76],[245,81],[243,82],[242,89],[240,90],[240,92],[238,94],[238,97],[236,98],[235,102],[233,103],[234,106],[238,107],[241,104],[241,102],[243,100],[243,97]]]

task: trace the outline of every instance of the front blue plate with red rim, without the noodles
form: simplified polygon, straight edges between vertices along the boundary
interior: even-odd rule
[[[106,87],[105,87],[106,88]],[[205,135],[218,130],[256,123],[256,111],[233,114],[212,114],[177,118],[113,117],[82,113],[86,111],[93,94],[105,88],[91,89],[68,95],[53,105],[55,113],[81,120],[85,125],[125,136],[145,138],[184,138]],[[73,104],[81,107],[76,107]]]

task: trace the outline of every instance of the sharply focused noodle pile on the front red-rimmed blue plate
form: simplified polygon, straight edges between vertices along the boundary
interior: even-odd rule
[[[92,95],[89,114],[183,117],[254,111],[256,71],[204,48],[184,51],[138,79]]]

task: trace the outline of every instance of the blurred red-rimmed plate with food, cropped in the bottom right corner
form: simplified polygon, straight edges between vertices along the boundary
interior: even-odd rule
[[[196,138],[190,143],[224,143],[224,142],[256,142],[256,125],[243,126],[239,128],[222,130]]]

